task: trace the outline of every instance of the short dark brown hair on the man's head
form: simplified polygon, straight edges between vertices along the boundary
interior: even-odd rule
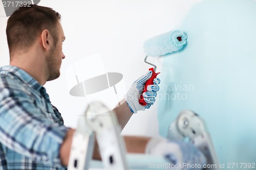
[[[6,27],[9,53],[16,49],[28,50],[42,30],[47,29],[57,42],[57,22],[61,16],[52,8],[31,5],[19,7],[9,17]]]

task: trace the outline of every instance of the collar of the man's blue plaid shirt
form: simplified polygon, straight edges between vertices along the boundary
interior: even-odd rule
[[[31,85],[32,88],[34,88],[37,91],[39,91],[42,88],[42,85],[39,84],[34,78],[32,78],[26,71],[16,66],[3,66],[0,68],[0,74],[12,74],[22,82]]]

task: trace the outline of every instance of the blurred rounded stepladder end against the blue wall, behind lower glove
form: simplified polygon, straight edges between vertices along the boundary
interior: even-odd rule
[[[212,165],[206,170],[220,170],[219,160],[214,149],[210,134],[204,120],[190,110],[180,112],[176,120],[170,124],[168,138],[186,140],[193,143],[206,157],[207,164]]]

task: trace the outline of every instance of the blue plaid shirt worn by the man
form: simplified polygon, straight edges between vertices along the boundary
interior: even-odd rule
[[[67,131],[42,85],[20,68],[0,68],[0,169],[65,169]]]

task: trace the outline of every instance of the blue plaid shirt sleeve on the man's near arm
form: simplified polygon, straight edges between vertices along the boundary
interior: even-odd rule
[[[51,122],[25,92],[0,89],[0,142],[31,159],[61,166],[59,148],[68,128]]]

